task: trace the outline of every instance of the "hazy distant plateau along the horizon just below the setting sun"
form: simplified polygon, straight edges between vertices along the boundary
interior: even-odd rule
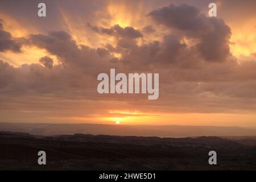
[[[179,125],[0,123],[0,131],[24,132],[34,135],[72,135],[81,133],[143,137],[256,136],[256,128]]]

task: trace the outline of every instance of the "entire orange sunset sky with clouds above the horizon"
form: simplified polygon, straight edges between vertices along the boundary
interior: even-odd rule
[[[256,127],[255,12],[254,0],[1,0],[0,122]],[[99,94],[110,68],[159,73],[159,98]]]

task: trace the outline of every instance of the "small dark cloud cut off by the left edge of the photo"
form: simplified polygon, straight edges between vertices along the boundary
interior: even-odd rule
[[[0,19],[0,52],[13,51],[20,52],[21,44],[14,39],[9,32],[3,30],[2,20]]]

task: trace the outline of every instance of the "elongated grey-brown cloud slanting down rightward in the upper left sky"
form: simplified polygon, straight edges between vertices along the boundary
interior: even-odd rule
[[[101,67],[109,68],[114,58],[108,49],[77,44],[65,31],[31,35],[30,44],[46,49],[51,55],[57,56],[65,66],[82,69],[88,74],[97,72]]]

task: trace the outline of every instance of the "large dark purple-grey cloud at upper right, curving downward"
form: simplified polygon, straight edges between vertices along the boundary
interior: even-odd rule
[[[222,19],[208,18],[196,7],[186,4],[171,4],[148,15],[160,24],[182,31],[188,38],[198,39],[197,48],[205,61],[221,62],[230,55],[231,30]]]

